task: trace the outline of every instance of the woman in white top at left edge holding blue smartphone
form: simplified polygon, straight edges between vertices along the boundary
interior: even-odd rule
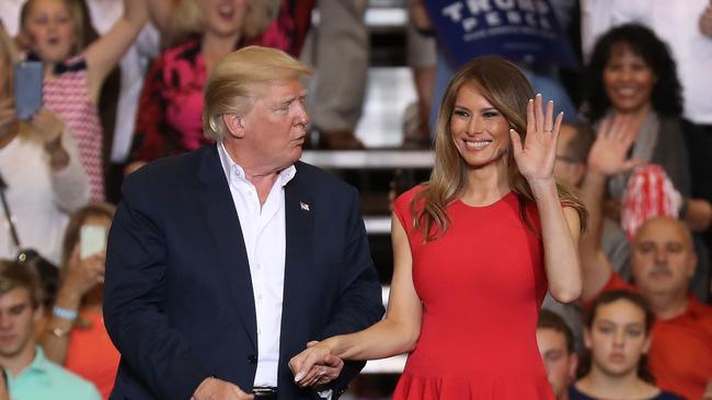
[[[0,176],[5,212],[20,242],[11,239],[10,217],[1,212],[0,258],[15,258],[22,246],[58,263],[68,213],[89,200],[89,179],[59,117],[42,107],[30,120],[19,120],[13,98],[16,62],[14,44],[0,25]]]

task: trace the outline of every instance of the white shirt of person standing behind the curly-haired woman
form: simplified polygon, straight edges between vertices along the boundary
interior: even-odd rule
[[[702,35],[698,21],[709,0],[584,0],[582,46],[590,57],[596,39],[616,25],[646,25],[667,43],[682,84],[685,118],[712,123],[712,38]]]

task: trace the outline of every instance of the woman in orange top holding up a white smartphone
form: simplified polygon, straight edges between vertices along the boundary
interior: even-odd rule
[[[114,386],[119,354],[104,328],[102,301],[108,203],[72,214],[62,246],[62,279],[41,338],[47,358],[93,383],[104,399]]]

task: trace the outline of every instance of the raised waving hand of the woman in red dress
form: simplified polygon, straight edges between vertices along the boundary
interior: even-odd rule
[[[554,102],[547,103],[543,110],[541,94],[527,103],[527,139],[522,145],[521,138],[509,129],[514,158],[519,173],[531,184],[536,180],[551,179],[556,160],[556,140],[563,119],[563,113],[553,117]]]

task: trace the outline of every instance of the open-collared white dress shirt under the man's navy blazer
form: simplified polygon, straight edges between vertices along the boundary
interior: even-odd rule
[[[291,165],[278,174],[267,200],[261,205],[257,190],[245,179],[244,169],[232,161],[222,142],[217,146],[250,262],[257,317],[257,373],[254,385],[276,387],[287,243],[284,186],[294,178],[297,168]]]

